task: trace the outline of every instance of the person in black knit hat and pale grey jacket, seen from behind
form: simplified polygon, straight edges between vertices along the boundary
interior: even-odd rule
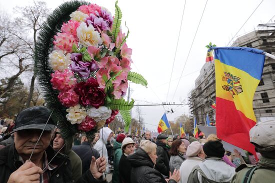
[[[202,149],[206,157],[193,168],[187,183],[230,183],[235,169],[222,160],[223,145],[219,141],[208,141]]]

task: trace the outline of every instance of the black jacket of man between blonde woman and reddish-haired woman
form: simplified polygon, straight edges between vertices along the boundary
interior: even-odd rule
[[[160,141],[156,141],[156,164],[155,169],[158,170],[164,176],[169,177],[169,154],[168,149],[165,144],[161,143]]]

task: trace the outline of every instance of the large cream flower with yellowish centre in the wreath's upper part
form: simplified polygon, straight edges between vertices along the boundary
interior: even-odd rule
[[[92,25],[87,27],[86,23],[82,22],[76,29],[76,35],[80,44],[84,46],[98,46],[102,44],[99,32],[94,30]]]

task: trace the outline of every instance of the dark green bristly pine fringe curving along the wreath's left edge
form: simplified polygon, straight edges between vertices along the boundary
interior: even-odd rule
[[[52,88],[50,74],[53,71],[48,63],[48,55],[53,50],[53,36],[60,30],[62,23],[70,19],[69,15],[83,4],[88,4],[88,2],[69,1],[54,9],[42,25],[35,49],[37,79],[43,91],[46,106],[53,110],[52,118],[64,138],[74,135],[77,132],[77,127],[67,122],[66,108],[58,101],[58,91]],[[89,135],[92,133],[94,131],[90,131]]]

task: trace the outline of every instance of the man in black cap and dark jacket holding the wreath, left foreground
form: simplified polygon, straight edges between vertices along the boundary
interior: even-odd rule
[[[27,108],[17,115],[11,132],[14,133],[14,145],[0,150],[0,183],[72,182],[69,159],[59,153],[55,156],[54,150],[49,146],[54,127],[50,111],[43,106]],[[90,169],[78,183],[100,182],[106,161],[99,158],[96,163],[98,170],[93,157]]]

